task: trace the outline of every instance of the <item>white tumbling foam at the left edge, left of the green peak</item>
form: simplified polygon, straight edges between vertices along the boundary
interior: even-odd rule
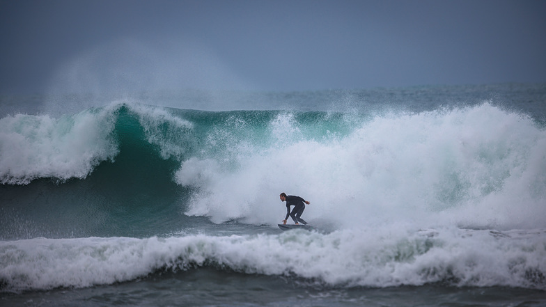
[[[28,184],[35,178],[85,178],[118,152],[111,139],[110,109],[88,109],[59,119],[47,115],[0,119],[0,182]]]

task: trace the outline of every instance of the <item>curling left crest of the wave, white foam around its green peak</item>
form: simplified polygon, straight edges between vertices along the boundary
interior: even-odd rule
[[[120,146],[127,145],[123,136],[139,131],[142,139],[136,140],[134,149],[155,146],[162,159],[180,159],[194,141],[187,120],[163,108],[127,102],[61,118],[26,114],[1,118],[0,184],[29,184],[37,178],[84,179],[100,163],[114,162]]]

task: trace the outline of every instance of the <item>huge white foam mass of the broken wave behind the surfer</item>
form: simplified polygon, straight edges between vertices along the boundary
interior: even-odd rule
[[[546,131],[520,114],[487,103],[387,114],[320,141],[286,114],[270,125],[270,147],[182,163],[178,183],[199,188],[187,214],[274,225],[284,191],[311,201],[307,221],[343,227],[546,227]]]

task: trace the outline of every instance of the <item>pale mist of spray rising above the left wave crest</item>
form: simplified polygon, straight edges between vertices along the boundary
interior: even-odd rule
[[[49,114],[76,113],[113,100],[164,107],[226,109],[223,92],[259,90],[226,65],[211,49],[165,39],[160,47],[127,37],[105,42],[67,58],[45,86]],[[172,101],[172,97],[177,99]],[[180,102],[180,96],[186,96]]]

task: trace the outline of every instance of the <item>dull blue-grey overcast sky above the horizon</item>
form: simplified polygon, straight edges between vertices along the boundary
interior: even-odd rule
[[[546,1],[0,0],[0,93],[546,81]]]

